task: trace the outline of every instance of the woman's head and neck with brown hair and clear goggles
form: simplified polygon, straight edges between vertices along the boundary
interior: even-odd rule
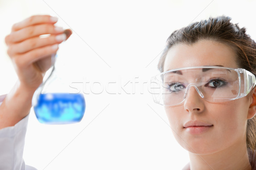
[[[162,74],[152,79],[155,102],[165,105],[177,142],[189,151],[184,170],[256,169],[256,43],[230,20],[173,32]]]

